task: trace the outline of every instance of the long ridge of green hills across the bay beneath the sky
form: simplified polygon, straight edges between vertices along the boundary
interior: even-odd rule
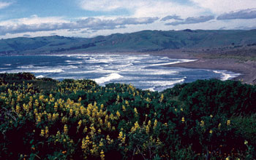
[[[91,39],[42,36],[0,40],[0,55],[65,52],[147,52],[163,49],[197,49],[256,45],[256,30],[139,31]]]

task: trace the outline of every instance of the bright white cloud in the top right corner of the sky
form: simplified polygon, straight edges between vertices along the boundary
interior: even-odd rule
[[[203,9],[219,15],[241,9],[256,8],[255,0],[191,0]]]

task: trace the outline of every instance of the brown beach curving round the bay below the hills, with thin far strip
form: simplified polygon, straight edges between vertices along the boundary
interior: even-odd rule
[[[92,54],[92,52],[76,52],[76,53],[59,53],[53,55],[80,55],[80,54]],[[93,54],[96,54],[93,52]],[[242,81],[245,84],[256,84],[256,61],[247,60],[245,62],[239,62],[234,58],[208,58],[209,55],[218,54],[218,52],[202,52],[200,50],[165,50],[155,52],[100,52],[99,54],[110,55],[156,55],[169,57],[172,59],[189,59],[195,60],[184,63],[174,63],[169,65],[163,65],[166,67],[181,67],[181,68],[200,68],[218,71],[232,71],[233,73],[240,73],[232,80]],[[41,55],[41,54],[39,54]],[[45,54],[42,54],[45,55]],[[52,54],[46,54],[52,55]],[[13,55],[12,55],[13,56]]]

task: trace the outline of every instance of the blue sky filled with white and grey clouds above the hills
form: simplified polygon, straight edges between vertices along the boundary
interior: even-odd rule
[[[0,39],[256,29],[256,0],[0,0]]]

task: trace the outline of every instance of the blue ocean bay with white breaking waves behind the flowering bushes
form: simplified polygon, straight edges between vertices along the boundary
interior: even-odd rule
[[[163,65],[189,62],[154,55],[24,55],[1,56],[0,73],[34,73],[37,78],[92,79],[104,86],[108,83],[132,84],[140,89],[162,91],[175,84],[197,79],[232,79],[238,73]]]

